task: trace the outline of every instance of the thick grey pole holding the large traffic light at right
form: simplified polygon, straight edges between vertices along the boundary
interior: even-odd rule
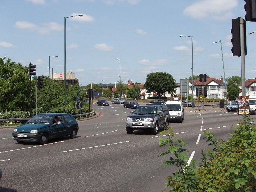
[[[244,19],[240,18],[240,48],[241,48],[241,78],[242,78],[242,96],[246,95],[245,92],[245,50],[244,50]]]

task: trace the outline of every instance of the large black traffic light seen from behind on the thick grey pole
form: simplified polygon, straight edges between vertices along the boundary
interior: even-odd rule
[[[232,39],[231,42],[233,47],[231,49],[233,55],[241,56],[241,47],[240,47],[240,17],[232,19],[232,29],[231,29]],[[247,54],[246,49],[246,21],[244,20],[244,55]]]

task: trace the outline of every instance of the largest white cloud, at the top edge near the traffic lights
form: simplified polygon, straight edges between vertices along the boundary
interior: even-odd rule
[[[195,19],[227,20],[234,17],[232,9],[238,0],[197,0],[183,11]]]

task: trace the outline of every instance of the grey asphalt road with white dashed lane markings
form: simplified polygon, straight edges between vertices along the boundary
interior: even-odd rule
[[[0,192],[160,192],[165,178],[176,170],[161,166],[170,156],[148,131],[127,134],[125,119],[131,109],[122,104],[93,108],[97,118],[79,121],[78,136],[50,140],[46,145],[18,144],[13,128],[0,129]],[[225,110],[196,111],[185,107],[182,123],[170,122],[175,138],[188,143],[190,159],[198,162],[201,149],[209,148],[203,130],[227,139],[238,116]],[[252,116],[254,119],[255,117]]]

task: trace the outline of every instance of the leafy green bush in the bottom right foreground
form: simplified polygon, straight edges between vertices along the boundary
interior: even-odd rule
[[[207,142],[213,150],[202,150],[199,166],[193,161],[190,165],[186,143],[174,138],[170,128],[164,128],[168,138],[159,139],[159,146],[167,146],[164,156],[172,154],[163,165],[175,165],[178,170],[166,178],[170,192],[255,192],[256,191],[256,128],[250,116],[234,128],[228,140],[218,140],[210,132],[204,131]],[[160,134],[162,134],[161,132]]]

